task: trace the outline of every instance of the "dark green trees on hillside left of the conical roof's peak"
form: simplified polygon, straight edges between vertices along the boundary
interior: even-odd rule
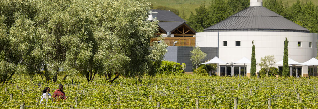
[[[249,0],[213,0],[207,8],[201,5],[196,10],[196,15],[191,13],[188,21],[190,27],[197,32],[212,26],[225,18],[249,6]]]

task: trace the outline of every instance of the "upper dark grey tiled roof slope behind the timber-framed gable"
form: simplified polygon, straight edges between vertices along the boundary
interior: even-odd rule
[[[186,22],[181,17],[169,10],[151,10],[152,12],[158,12],[157,20],[159,22]]]

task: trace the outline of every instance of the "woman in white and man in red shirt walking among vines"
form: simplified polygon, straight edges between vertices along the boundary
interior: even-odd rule
[[[63,99],[63,100],[66,100],[67,97],[65,96],[65,92],[63,92],[63,85],[60,84],[59,85],[59,89],[57,89],[56,91],[54,91],[53,95],[51,95],[50,93],[50,87],[45,87],[44,90],[42,91],[42,96],[41,96],[41,101],[40,103],[43,104],[43,100],[46,99],[46,93],[48,93],[48,97],[51,98],[54,98],[54,100],[60,100],[60,99]],[[53,99],[51,98],[51,101],[53,102]]]

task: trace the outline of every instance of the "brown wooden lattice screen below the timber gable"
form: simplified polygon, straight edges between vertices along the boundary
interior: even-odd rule
[[[195,47],[196,46],[196,37],[166,37],[163,39],[163,41],[168,46],[173,46],[173,42],[176,42],[175,46],[185,46],[185,47]],[[158,38],[152,38],[150,40],[150,44],[152,42],[158,42]]]

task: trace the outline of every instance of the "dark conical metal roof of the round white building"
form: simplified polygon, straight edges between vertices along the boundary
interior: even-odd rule
[[[263,7],[250,6],[206,29],[210,31],[286,31],[309,32],[308,29]]]

